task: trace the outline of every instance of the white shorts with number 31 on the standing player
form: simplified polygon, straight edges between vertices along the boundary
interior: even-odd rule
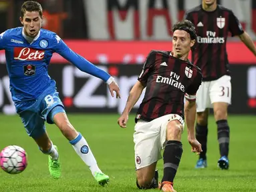
[[[197,91],[197,112],[213,108],[213,103],[231,104],[231,77],[224,75],[215,81],[205,81]]]

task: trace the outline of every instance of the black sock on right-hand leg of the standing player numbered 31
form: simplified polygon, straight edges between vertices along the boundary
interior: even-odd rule
[[[219,120],[216,122],[218,127],[219,151],[222,156],[229,155],[229,124],[227,120]]]

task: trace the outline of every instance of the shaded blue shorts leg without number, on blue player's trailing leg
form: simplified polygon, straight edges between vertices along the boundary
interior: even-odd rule
[[[45,134],[44,120],[34,111],[23,111],[19,113],[21,121],[27,134],[33,139],[38,139]]]

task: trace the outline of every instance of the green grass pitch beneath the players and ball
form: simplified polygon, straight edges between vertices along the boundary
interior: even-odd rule
[[[19,175],[9,175],[0,170],[0,191],[139,191],[135,184],[134,170],[134,115],[130,115],[128,128],[117,125],[118,115],[69,115],[70,121],[86,137],[98,165],[110,176],[110,183],[101,187],[94,181],[90,169],[76,155],[68,141],[55,125],[47,125],[47,131],[59,147],[62,177],[51,179],[47,168],[47,155],[43,155],[33,139],[29,138],[18,116],[0,115],[0,148],[19,145],[28,154],[27,169]],[[255,116],[231,115],[230,169],[217,168],[219,145],[217,127],[213,117],[209,119],[207,169],[194,169],[197,155],[190,152],[186,131],[182,135],[184,152],[174,189],[176,191],[256,191],[256,125]],[[162,177],[162,160],[158,163]],[[158,191],[158,189],[149,190]]]

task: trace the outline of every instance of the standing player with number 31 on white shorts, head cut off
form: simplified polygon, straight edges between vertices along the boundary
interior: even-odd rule
[[[187,11],[184,19],[196,26],[198,36],[192,62],[203,73],[203,83],[197,91],[196,125],[196,137],[202,144],[203,152],[196,168],[207,167],[208,108],[213,108],[221,155],[218,166],[229,169],[227,108],[231,104],[231,76],[226,50],[227,37],[229,32],[232,36],[238,36],[254,55],[255,45],[233,11],[218,5],[217,0],[203,0],[201,5]]]

